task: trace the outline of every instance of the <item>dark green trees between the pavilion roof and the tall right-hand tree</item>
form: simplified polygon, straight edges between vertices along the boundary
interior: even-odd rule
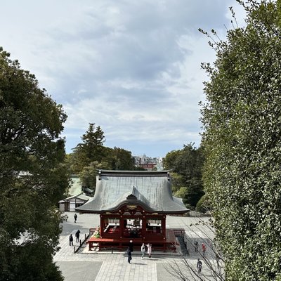
[[[171,169],[174,195],[183,198],[186,206],[195,208],[204,195],[202,186],[202,166],[204,153],[202,148],[192,144],[183,145],[182,150],[167,153],[163,160],[164,169]]]

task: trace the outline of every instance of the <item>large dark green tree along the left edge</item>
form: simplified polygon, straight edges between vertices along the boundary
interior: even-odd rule
[[[52,257],[68,185],[66,115],[9,56],[0,48],[0,280],[63,280]]]

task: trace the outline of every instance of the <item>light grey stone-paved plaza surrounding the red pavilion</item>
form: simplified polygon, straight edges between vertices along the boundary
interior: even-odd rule
[[[77,222],[74,223],[74,213],[65,213],[68,216],[67,221],[63,223],[63,231],[60,235],[60,251],[54,256],[55,263],[65,277],[65,281],[174,281],[181,280],[173,275],[175,265],[181,268],[188,276],[188,280],[205,280],[196,277],[192,270],[196,269],[197,259],[201,258],[201,252],[195,252],[193,242],[196,240],[201,244],[209,244],[213,238],[213,233],[209,226],[204,226],[200,221],[208,221],[209,218],[197,218],[190,216],[167,216],[166,222],[169,228],[184,228],[188,241],[185,246],[188,248],[189,256],[186,260],[190,268],[183,264],[180,247],[177,246],[176,252],[152,251],[151,259],[145,256],[141,259],[141,249],[133,249],[133,259],[131,263],[127,261],[126,251],[77,251],[74,254],[74,248],[79,247],[79,243],[75,240],[75,233],[79,229],[80,239],[89,234],[89,228],[96,228],[99,225],[100,218],[96,214],[77,214]],[[74,236],[74,246],[70,246],[69,235]],[[153,248],[153,245],[152,245]],[[215,264],[215,259],[211,248],[207,253],[208,259]],[[204,265],[203,273],[206,280],[216,280],[212,277],[211,272],[207,272],[208,268]],[[207,279],[208,278],[208,279]]]

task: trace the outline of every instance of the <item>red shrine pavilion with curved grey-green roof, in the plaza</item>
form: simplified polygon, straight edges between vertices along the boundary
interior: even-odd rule
[[[98,171],[93,199],[76,210],[100,214],[100,237],[89,238],[90,249],[93,243],[122,249],[133,240],[164,250],[175,240],[166,215],[189,211],[172,195],[169,171],[106,170]]]

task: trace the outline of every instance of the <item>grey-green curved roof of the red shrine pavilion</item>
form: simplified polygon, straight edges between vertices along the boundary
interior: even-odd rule
[[[115,211],[122,204],[140,204],[147,211],[185,213],[181,198],[172,196],[169,171],[106,171],[97,176],[93,199],[77,208],[81,212]]]

